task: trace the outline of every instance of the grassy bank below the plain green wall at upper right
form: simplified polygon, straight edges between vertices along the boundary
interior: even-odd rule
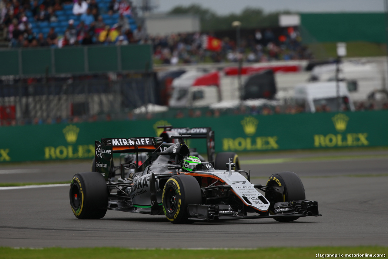
[[[308,44],[315,58],[326,59],[336,58],[337,43],[323,42]],[[346,42],[346,57],[376,57],[386,55],[386,44],[373,42]]]

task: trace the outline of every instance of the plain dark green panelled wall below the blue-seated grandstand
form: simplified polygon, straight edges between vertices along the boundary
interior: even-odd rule
[[[152,46],[0,49],[0,76],[152,71]]]

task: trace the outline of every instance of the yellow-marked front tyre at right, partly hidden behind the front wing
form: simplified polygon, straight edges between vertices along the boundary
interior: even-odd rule
[[[274,204],[282,201],[305,200],[305,187],[299,176],[293,172],[274,173],[268,178],[267,186],[284,186],[283,195],[275,192],[265,193],[265,198],[271,203],[270,214],[274,214]],[[275,217],[275,221],[289,222],[299,217]]]

